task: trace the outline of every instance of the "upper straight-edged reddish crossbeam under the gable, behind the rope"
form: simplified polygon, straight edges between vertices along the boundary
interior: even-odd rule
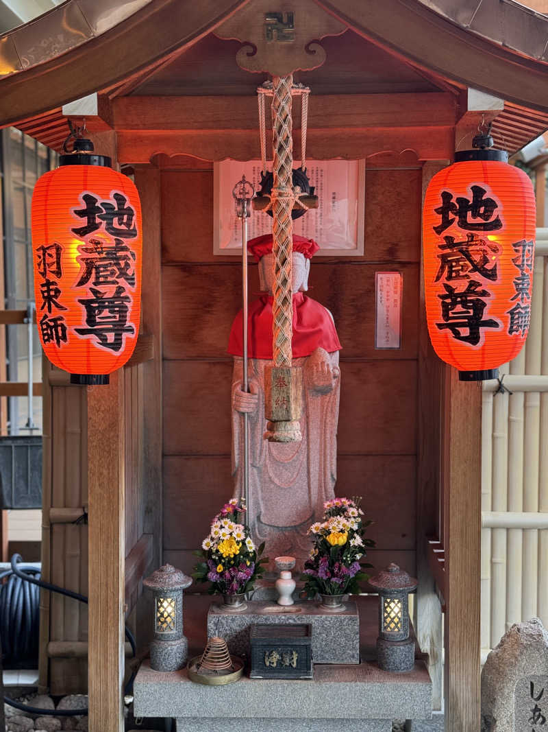
[[[308,129],[348,127],[447,127],[455,123],[456,100],[430,94],[323,94],[308,111]],[[118,97],[115,130],[256,130],[255,97]],[[300,120],[294,120],[294,129]]]

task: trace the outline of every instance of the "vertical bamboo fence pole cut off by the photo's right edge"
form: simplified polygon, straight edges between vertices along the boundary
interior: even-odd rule
[[[548,378],[548,256],[544,256],[541,373]],[[541,394],[539,511],[548,512],[548,394]],[[536,614],[548,627],[548,527],[539,531],[539,595]]]

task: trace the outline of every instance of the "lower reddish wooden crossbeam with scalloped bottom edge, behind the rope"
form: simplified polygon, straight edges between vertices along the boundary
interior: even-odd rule
[[[300,134],[294,135],[299,149]],[[379,152],[416,152],[420,160],[440,160],[454,149],[452,127],[384,127],[359,130],[308,130],[309,160],[357,160]],[[191,155],[202,160],[256,160],[256,136],[247,130],[180,130],[164,132],[118,132],[121,163],[150,163],[156,154]]]

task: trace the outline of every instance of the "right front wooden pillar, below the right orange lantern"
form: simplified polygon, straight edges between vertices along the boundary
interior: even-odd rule
[[[442,425],[445,578],[445,728],[480,727],[479,613],[482,382],[446,366]]]

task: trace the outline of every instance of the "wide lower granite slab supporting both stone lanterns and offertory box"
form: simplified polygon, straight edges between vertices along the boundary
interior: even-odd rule
[[[134,713],[175,717],[177,732],[225,732],[234,726],[240,732],[390,732],[394,719],[429,719],[432,684],[425,662],[417,660],[411,673],[380,671],[373,660],[378,600],[355,600],[359,664],[316,663],[312,681],[243,676],[226,687],[208,687],[189,681],[186,670],[151,671],[146,661],[134,682]],[[212,598],[189,596],[185,602],[191,657],[205,647]]]

